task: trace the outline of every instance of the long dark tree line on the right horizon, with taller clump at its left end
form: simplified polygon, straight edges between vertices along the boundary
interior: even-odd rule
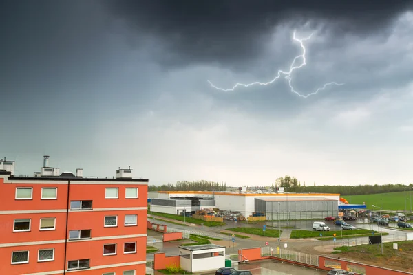
[[[403,192],[413,190],[413,184],[383,184],[383,185],[358,185],[358,186],[330,186],[322,185],[316,186],[316,184],[307,185],[304,182],[301,184],[295,177],[286,175],[285,177],[279,177],[275,180],[275,183],[271,186],[273,190],[277,187],[284,187],[284,192],[321,192],[321,193],[335,193],[340,195],[370,195],[388,192]]]

